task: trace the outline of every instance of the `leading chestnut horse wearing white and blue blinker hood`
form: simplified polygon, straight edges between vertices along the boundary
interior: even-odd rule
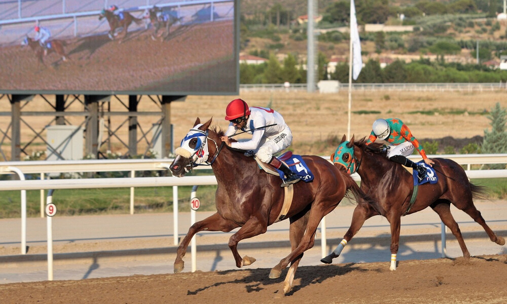
[[[211,119],[204,124],[197,118],[194,128],[176,149],[176,158],[170,166],[175,176],[181,177],[196,164],[211,165],[218,182],[215,194],[217,212],[193,224],[177,249],[174,272],[184,269],[183,257],[192,237],[199,231],[223,231],[241,227],[229,239],[236,266],[241,268],[255,262],[255,258],[239,255],[238,242],[263,234],[272,223],[289,218],[289,238],[292,252],[283,258],[270,272],[269,277],[278,278],[291,263],[283,291],[291,289],[294,274],[303,253],[314,245],[317,226],[322,217],[340,203],[346,193],[352,193],[356,200],[368,199],[357,183],[345,172],[327,160],[317,156],[304,156],[314,179],[311,182],[294,184],[292,205],[281,216],[284,188],[280,187],[279,176],[270,175],[259,169],[255,160],[244,155],[245,151],[223,148],[222,131],[209,129]],[[350,192],[349,192],[350,191]]]

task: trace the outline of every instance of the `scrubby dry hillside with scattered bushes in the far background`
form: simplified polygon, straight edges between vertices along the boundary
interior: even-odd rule
[[[326,9],[331,3],[333,2],[318,1],[319,14],[325,17],[327,14]],[[416,3],[416,1],[390,1],[389,9],[413,7]],[[441,1],[441,3],[449,2]],[[359,4],[360,2],[356,2],[356,6]],[[275,9],[273,7],[276,8],[276,6],[281,9],[282,14],[285,13],[290,16],[290,23],[279,26],[274,24],[276,17],[274,17],[275,13],[273,11]],[[241,39],[244,42],[241,45],[241,52],[243,54],[259,54],[264,51],[264,54],[273,53],[279,59],[290,53],[295,54],[300,61],[306,60],[306,29],[304,25],[297,24],[296,19],[300,15],[306,15],[307,9],[307,1],[302,0],[247,0],[241,2],[241,14],[250,18],[250,22],[246,25],[247,30],[242,29],[241,32]],[[266,18],[269,19],[269,16],[273,20],[271,25],[266,20]],[[458,52],[442,50],[447,62],[476,63],[476,43],[479,42],[481,62],[493,60],[493,64],[498,64],[500,54],[507,52],[505,51],[507,22],[497,22],[496,18],[485,18],[485,16],[486,14],[480,11],[477,11],[476,14],[466,15],[432,15],[410,19],[409,23],[414,26],[414,31],[384,32],[381,34],[361,30],[363,61],[376,59],[388,62],[388,58],[399,58],[409,62],[419,59],[421,56],[434,60],[437,58],[437,54],[434,49],[431,49],[431,46],[437,41],[444,40],[461,48],[461,51]],[[258,22],[262,20],[264,24],[252,24],[253,21],[251,20],[253,19]],[[365,23],[359,19],[359,15],[358,23],[360,29],[362,24]],[[407,20],[405,23],[407,23]],[[402,21],[390,16],[385,24],[401,25]],[[333,25],[326,22],[320,22],[317,25],[317,30],[325,28],[329,31],[329,27],[336,28],[334,32],[321,33],[317,37],[318,50],[325,55],[328,61],[332,58],[341,58],[341,60],[346,61],[346,58],[348,58],[348,29],[344,25]],[[481,51],[481,49],[483,50]],[[484,52],[484,54],[481,52]],[[266,56],[264,55],[264,57]]]

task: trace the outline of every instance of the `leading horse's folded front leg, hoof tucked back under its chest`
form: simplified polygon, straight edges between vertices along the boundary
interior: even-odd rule
[[[249,257],[247,255],[241,258],[237,249],[239,241],[266,233],[267,230],[268,230],[267,217],[266,219],[265,218],[259,219],[257,217],[252,216],[238,230],[238,232],[236,232],[231,236],[231,238],[229,239],[229,248],[231,248],[232,255],[236,260],[237,268],[250,265],[251,263],[256,261],[255,258]]]

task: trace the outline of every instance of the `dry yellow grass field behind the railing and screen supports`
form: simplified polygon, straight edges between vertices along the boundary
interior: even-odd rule
[[[352,115],[350,133],[357,137],[368,136],[371,124],[377,118],[396,117],[402,119],[417,138],[470,138],[483,136],[485,129],[491,129],[488,112],[495,103],[507,106],[506,92],[354,92],[352,94]],[[294,134],[293,148],[300,154],[327,155],[334,151],[334,140],[347,134],[348,92],[338,94],[319,94],[306,92],[245,92],[240,96],[188,96],[184,102],[171,104],[171,123],[174,124],[175,145],[179,144],[196,118],[202,121],[213,118],[213,125],[225,129],[225,108],[234,98],[243,98],[251,106],[269,106],[284,116]],[[47,97],[49,98],[49,97]],[[128,104],[127,96],[119,96]],[[49,99],[51,102],[51,99]],[[0,99],[0,111],[10,111],[6,97]],[[54,111],[41,97],[26,104],[22,111]],[[112,111],[127,111],[115,97],[112,97]],[[158,111],[158,106],[147,96],[142,97],[139,111]],[[66,111],[83,111],[83,105],[74,102]],[[160,117],[139,117],[143,132],[148,132]],[[54,124],[52,116],[22,117],[36,131],[46,125]],[[79,125],[83,117],[68,116],[68,123]],[[111,117],[111,128],[117,129],[127,117]],[[10,119],[0,121],[0,129],[8,130]],[[34,137],[34,132],[22,122],[22,146]],[[8,132],[10,135],[10,130]],[[128,142],[128,124],[123,125],[118,135]],[[138,138],[141,137],[138,133]],[[45,132],[41,134],[46,138]],[[105,138],[106,134],[104,134]],[[151,136],[149,134],[149,136]],[[115,139],[114,139],[115,140]],[[34,140],[28,150],[44,150],[42,140]],[[119,153],[126,148],[114,144]],[[146,143],[141,141],[138,151],[143,151]],[[4,153],[10,153],[10,142],[4,140]]]

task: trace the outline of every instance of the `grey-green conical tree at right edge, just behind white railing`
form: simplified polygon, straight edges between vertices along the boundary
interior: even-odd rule
[[[491,110],[488,119],[491,121],[491,132],[484,130],[484,141],[482,143],[482,153],[507,153],[507,131],[505,123],[507,122],[507,110],[500,107],[497,102]],[[489,166],[492,169],[505,169],[505,164],[494,164]]]

